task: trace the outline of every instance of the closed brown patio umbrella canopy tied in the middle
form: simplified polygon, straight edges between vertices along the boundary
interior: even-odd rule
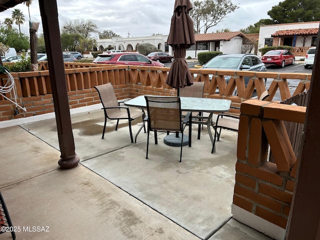
[[[173,48],[174,60],[165,83],[176,89],[193,84],[193,76],[185,61],[185,49],[195,43],[193,22],[188,14],[190,9],[192,9],[190,0],[175,0],[170,32],[166,41]]]

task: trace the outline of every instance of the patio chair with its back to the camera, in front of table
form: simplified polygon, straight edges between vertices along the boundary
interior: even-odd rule
[[[146,156],[148,158],[149,133],[154,132],[154,143],[157,144],[157,131],[178,132],[181,135],[180,162],[182,157],[183,130],[191,112],[181,120],[181,103],[178,96],[144,96],[147,116]],[[189,125],[190,127],[190,125]]]

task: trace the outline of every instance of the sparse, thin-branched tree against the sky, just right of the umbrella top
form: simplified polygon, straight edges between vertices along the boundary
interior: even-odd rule
[[[196,33],[200,33],[202,27],[206,33],[210,27],[222,21],[227,14],[239,8],[231,0],[193,0],[193,6],[190,16],[195,22]],[[202,26],[200,26],[201,23]]]

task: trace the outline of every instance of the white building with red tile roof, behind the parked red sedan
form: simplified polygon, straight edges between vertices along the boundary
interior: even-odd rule
[[[260,26],[258,48],[264,46],[292,46],[295,56],[305,56],[316,45],[320,21],[294,22]],[[258,51],[258,55],[261,53]]]

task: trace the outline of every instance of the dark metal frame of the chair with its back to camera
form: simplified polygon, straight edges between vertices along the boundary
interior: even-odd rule
[[[182,142],[183,142],[183,131],[184,131],[184,128],[185,126],[187,125],[187,121],[188,121],[188,118],[191,114],[191,112],[187,112],[184,120],[182,121],[182,117],[181,117],[181,102],[180,102],[180,97],[178,96],[144,96],[145,97],[145,101],[146,101],[146,109],[147,109],[147,116],[144,118],[144,120],[147,122],[147,140],[146,140],[146,155],[145,155],[145,158],[148,159],[148,149],[149,149],[149,134],[150,134],[150,131],[153,131],[154,132],[154,144],[157,144],[158,141],[157,141],[157,131],[163,131],[163,132],[176,132],[176,133],[182,133],[181,134],[181,146],[180,146],[180,161],[181,162],[181,158],[182,158]],[[166,99],[166,100],[169,100],[169,101],[161,101],[160,99],[163,99],[163,97]],[[152,121],[152,115],[150,113],[150,107],[149,107],[149,102],[158,102],[158,103],[174,103],[176,102],[178,104],[178,109],[179,110],[179,122],[180,122],[180,127],[179,129],[172,129],[172,128],[165,128],[165,127],[161,127],[161,128],[154,128],[152,127],[152,124],[151,124],[151,121]],[[159,107],[159,108],[163,108],[163,109],[166,109],[164,107]],[[190,124],[189,124],[189,127],[190,127]]]

